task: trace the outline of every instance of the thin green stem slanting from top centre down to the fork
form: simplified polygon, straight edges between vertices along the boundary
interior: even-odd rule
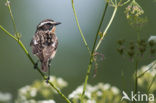
[[[85,39],[85,37],[84,37],[84,34],[83,34],[82,30],[81,30],[81,27],[80,27],[80,24],[79,24],[79,21],[78,21],[78,18],[77,18],[75,6],[74,6],[74,1],[71,0],[71,2],[72,2],[72,8],[73,8],[73,12],[74,12],[74,16],[75,16],[75,20],[76,20],[76,23],[77,23],[79,32],[80,32],[80,34],[81,34],[81,37],[82,37],[82,39],[83,39],[83,42],[84,42],[86,48],[88,49],[89,54],[91,54],[91,51],[90,51],[89,46],[88,46],[88,44],[87,44],[87,42],[86,42],[86,39]]]

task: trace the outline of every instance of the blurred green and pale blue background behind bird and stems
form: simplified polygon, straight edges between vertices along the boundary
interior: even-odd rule
[[[147,40],[156,34],[156,2],[153,0],[137,0],[143,7],[148,23],[141,31],[141,38]],[[78,19],[86,40],[91,48],[104,9],[104,0],[75,0]],[[11,8],[17,25],[22,34],[22,41],[28,51],[30,40],[36,30],[36,25],[43,19],[53,19],[62,22],[57,26],[56,34],[59,39],[58,51],[52,61],[51,74],[62,77],[68,82],[63,93],[68,95],[85,78],[89,54],[81,39],[70,0],[11,0]],[[109,7],[101,31],[111,17],[112,8]],[[97,76],[89,83],[110,83],[120,90],[133,90],[132,74],[134,63],[127,57],[122,58],[116,51],[117,41],[126,39],[136,41],[136,31],[128,24],[124,14],[125,6],[119,8],[117,15],[109,28],[108,35],[102,42],[98,52],[104,54],[104,60],[98,61]],[[13,26],[5,0],[0,0],[0,25],[13,33]],[[32,53],[31,53],[32,55]],[[146,53],[148,55],[148,53]],[[33,55],[32,55],[33,56]],[[34,57],[37,60],[36,57]],[[142,58],[139,67],[149,64],[155,58]],[[124,78],[121,73],[124,72]],[[40,74],[33,69],[27,56],[17,43],[0,30],[0,91],[11,92],[16,97],[18,88],[41,79]],[[58,101],[62,101],[58,96]]]

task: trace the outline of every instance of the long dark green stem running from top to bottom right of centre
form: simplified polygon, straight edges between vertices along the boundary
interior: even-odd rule
[[[105,4],[104,12],[103,12],[103,15],[102,15],[102,18],[101,18],[101,21],[100,21],[96,36],[95,36],[95,40],[94,40],[94,44],[93,44],[93,48],[92,48],[92,52],[91,52],[91,56],[90,56],[90,62],[89,62],[86,77],[85,77],[85,83],[84,83],[84,86],[83,86],[83,92],[82,92],[82,95],[81,95],[81,102],[82,103],[83,103],[83,98],[84,98],[84,94],[85,94],[85,91],[86,91],[86,86],[87,86],[89,74],[90,74],[92,64],[93,64],[93,61],[94,61],[94,50],[95,50],[96,42],[97,42],[97,39],[98,39],[98,34],[100,32],[100,28],[101,28],[101,25],[103,23],[107,8],[108,8],[108,2],[106,2],[106,4]]]

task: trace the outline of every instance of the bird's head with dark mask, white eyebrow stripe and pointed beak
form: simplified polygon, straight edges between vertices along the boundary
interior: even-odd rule
[[[51,32],[55,32],[56,30],[56,25],[61,24],[60,22],[55,22],[54,20],[51,19],[46,19],[41,21],[38,26],[37,26],[37,30],[43,30],[43,31],[51,31]]]

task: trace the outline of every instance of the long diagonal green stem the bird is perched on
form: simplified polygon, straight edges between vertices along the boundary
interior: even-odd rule
[[[20,45],[20,47],[23,49],[23,51],[25,52],[25,54],[27,55],[27,57],[29,58],[29,60],[31,61],[31,63],[32,63],[33,65],[35,65],[34,60],[33,60],[32,57],[30,56],[28,50],[27,50],[27,49],[25,48],[25,46],[23,45],[22,41],[21,41],[21,40],[18,40],[15,36],[13,36],[11,33],[9,33],[9,32],[8,32],[6,29],[4,29],[1,25],[0,25],[0,29],[1,29],[2,31],[4,31],[7,35],[9,35],[11,38],[13,38],[14,40],[17,41],[17,43],[18,43],[18,44]],[[41,74],[41,76],[46,80],[46,79],[47,79],[46,76],[45,76],[45,75],[43,74],[43,72],[39,69],[39,67],[37,67],[36,69],[37,69],[37,71]],[[50,82],[50,81],[48,80],[48,83],[51,85],[51,87],[53,87],[53,88],[58,92],[58,94],[59,94],[62,98],[64,98],[64,100],[65,100],[67,103],[71,103],[71,102],[69,101],[69,99],[68,99],[67,97],[65,97],[65,95],[64,95],[63,93],[61,93],[61,91],[60,91],[59,89],[57,89],[57,88],[53,85],[52,82]]]

